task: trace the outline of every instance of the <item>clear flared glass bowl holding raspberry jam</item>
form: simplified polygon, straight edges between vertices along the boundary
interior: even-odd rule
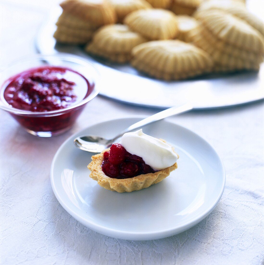
[[[4,90],[13,76],[25,70],[43,66],[64,67],[83,75],[89,86],[77,86],[77,92],[85,97],[69,107],[47,112],[32,112],[12,107],[4,99]],[[50,137],[58,135],[74,124],[85,105],[99,93],[99,73],[96,68],[79,56],[68,54],[35,55],[8,65],[0,73],[0,108],[11,114],[30,134]],[[89,91],[87,93],[87,91]]]

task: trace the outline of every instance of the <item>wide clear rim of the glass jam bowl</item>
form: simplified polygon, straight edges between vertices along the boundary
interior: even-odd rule
[[[1,71],[0,71],[0,80],[1,80],[1,75],[5,71],[10,69],[11,67],[15,66],[16,64],[20,64],[20,63],[27,62],[27,61],[40,61],[40,60],[48,61],[48,58],[50,58],[50,59],[54,59],[54,58],[61,59],[61,60],[65,60],[65,61],[69,61],[69,62],[72,62],[72,63],[79,64],[79,65],[83,65],[83,66],[86,66],[86,67],[89,67],[90,69],[92,69],[94,71],[93,78],[95,79],[95,82],[94,82],[95,86],[94,86],[94,90],[92,91],[92,93],[90,95],[88,95],[86,98],[82,99],[78,104],[73,104],[73,105],[70,105],[67,108],[57,109],[57,110],[54,110],[54,111],[46,111],[46,112],[43,112],[43,111],[33,112],[33,111],[25,111],[25,110],[22,110],[22,109],[13,108],[7,102],[6,102],[7,105],[4,104],[3,100],[0,97],[0,109],[3,109],[4,111],[7,111],[7,112],[11,112],[13,114],[24,115],[24,116],[54,116],[54,115],[62,114],[62,113],[65,113],[65,112],[69,112],[72,109],[81,107],[82,105],[88,103],[90,100],[92,100],[93,98],[95,98],[95,96],[98,95],[98,93],[100,91],[99,86],[98,86],[98,84],[100,83],[100,81],[99,81],[100,80],[100,73],[97,70],[97,68],[94,66],[94,64],[89,62],[88,60],[85,60],[81,56],[72,55],[72,54],[68,54],[68,53],[65,53],[65,52],[60,52],[58,54],[35,54],[35,55],[31,55],[31,56],[22,57],[19,60],[15,60],[12,63],[7,64],[4,67],[4,69],[1,69]],[[49,65],[49,63],[47,63],[46,65]],[[52,65],[52,64],[50,64],[50,65]],[[45,64],[44,64],[44,66],[45,66]],[[32,68],[34,68],[34,67],[32,67]],[[74,70],[74,68],[70,68],[70,69]],[[17,74],[19,74],[19,72]],[[94,76],[94,74],[96,76]],[[1,80],[0,92],[2,92],[2,89],[5,89],[3,84],[7,80],[8,79]],[[88,81],[89,81],[89,79],[88,79]]]

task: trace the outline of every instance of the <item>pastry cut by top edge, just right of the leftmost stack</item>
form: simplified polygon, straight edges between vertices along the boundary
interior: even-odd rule
[[[152,8],[145,0],[110,0],[110,2],[115,8],[117,21],[119,23],[122,23],[124,17],[133,11]]]

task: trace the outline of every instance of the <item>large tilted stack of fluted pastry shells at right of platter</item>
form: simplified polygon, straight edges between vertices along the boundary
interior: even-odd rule
[[[199,11],[196,18],[200,25],[190,37],[212,56],[216,71],[259,69],[264,38],[256,29],[222,10]]]

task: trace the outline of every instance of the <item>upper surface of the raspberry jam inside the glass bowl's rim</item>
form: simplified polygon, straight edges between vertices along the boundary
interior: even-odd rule
[[[88,87],[85,77],[62,67],[30,69],[12,77],[9,82],[4,90],[7,103],[13,108],[33,112],[67,108],[78,100],[74,88],[80,82],[85,82]],[[88,89],[85,91],[85,94],[87,93]]]

